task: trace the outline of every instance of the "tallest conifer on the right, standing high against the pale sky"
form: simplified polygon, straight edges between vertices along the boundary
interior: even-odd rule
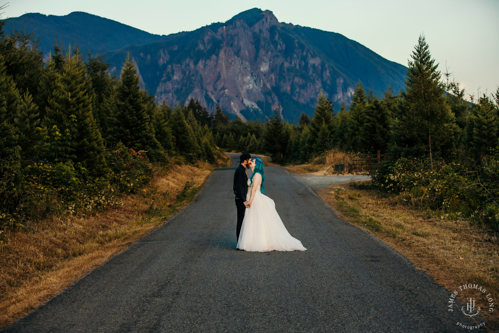
[[[433,169],[433,154],[451,151],[459,128],[445,102],[438,64],[432,59],[423,35],[420,35],[411,57],[406,89],[402,92],[401,130],[414,141],[415,154],[425,150],[429,153]]]

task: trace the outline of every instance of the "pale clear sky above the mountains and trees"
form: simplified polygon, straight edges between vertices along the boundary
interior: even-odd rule
[[[3,18],[85,11],[156,34],[194,30],[257,7],[271,10],[280,22],[341,33],[406,66],[424,33],[438,69],[445,72],[447,63],[467,95],[490,94],[499,85],[499,0],[10,0],[7,5]]]

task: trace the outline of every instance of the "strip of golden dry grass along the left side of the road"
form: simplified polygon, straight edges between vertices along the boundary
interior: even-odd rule
[[[141,193],[123,196],[119,208],[57,216],[8,233],[0,249],[0,327],[163,224],[192,201],[212,169],[201,162],[157,170]]]

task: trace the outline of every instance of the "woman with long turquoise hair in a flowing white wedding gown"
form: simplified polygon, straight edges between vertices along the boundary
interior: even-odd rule
[[[301,241],[287,232],[274,201],[266,195],[263,161],[254,158],[250,161],[253,174],[248,179],[248,205],[241,227],[238,248],[246,251],[294,251],[306,250]]]

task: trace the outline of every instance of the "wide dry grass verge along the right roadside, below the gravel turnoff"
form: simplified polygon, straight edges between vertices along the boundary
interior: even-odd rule
[[[477,228],[466,220],[429,218],[424,212],[398,204],[395,198],[383,197],[370,189],[357,189],[348,183],[331,185],[317,194],[342,218],[369,230],[449,291],[464,283],[479,283],[497,302],[496,232]],[[476,296],[484,298],[481,293]],[[483,313],[487,313],[488,325],[497,327],[498,311],[489,312],[485,308]]]

